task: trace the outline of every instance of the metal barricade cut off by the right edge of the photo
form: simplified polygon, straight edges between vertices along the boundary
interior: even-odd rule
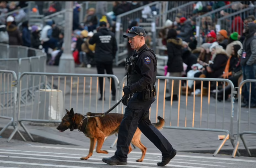
[[[242,110],[242,108],[241,108],[242,87],[246,83],[250,83],[249,84],[250,93],[248,95],[249,96],[249,102],[248,102],[249,104],[248,104],[247,117],[246,117],[246,115],[244,115],[247,112],[244,112],[244,110]],[[252,86],[252,83],[254,84],[254,87]],[[244,148],[246,149],[248,156],[252,156],[248,146],[246,145],[246,141],[244,140],[243,135],[244,134],[256,135],[255,121],[254,121],[254,123],[252,123],[252,120],[251,120],[251,116],[254,115],[254,113],[251,113],[251,108],[250,108],[251,96],[252,96],[251,91],[252,91],[252,89],[256,90],[255,86],[256,86],[256,80],[247,79],[247,80],[242,81],[238,88],[238,91],[239,91],[239,93],[238,93],[238,131],[237,131],[238,139],[236,142],[236,147],[234,148],[233,153],[232,153],[233,158],[236,156],[236,152],[238,152],[238,146],[240,144],[240,140],[242,140],[242,142],[244,144]],[[248,85],[246,87],[248,87]],[[253,112],[255,112],[255,111],[256,110],[254,110]],[[242,115],[242,112],[243,112],[243,115]]]

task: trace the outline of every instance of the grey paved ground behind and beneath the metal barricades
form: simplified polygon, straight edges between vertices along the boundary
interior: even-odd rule
[[[47,66],[47,72],[56,73],[58,72],[58,67],[56,66]],[[77,74],[96,74],[96,69],[91,68],[76,68]],[[123,68],[114,68],[114,75],[116,75],[119,79],[119,81],[122,80],[124,77],[124,69]],[[22,84],[26,84],[26,78],[24,78],[25,82]],[[52,76],[48,76],[48,82],[52,80]],[[77,77],[74,77],[71,79],[70,77],[66,78],[66,87],[64,85],[64,79],[60,79],[60,90],[62,90],[63,97],[65,97],[65,103],[64,108],[70,109],[71,107],[74,108],[75,112],[86,114],[86,112],[95,112],[97,107],[97,112],[105,112],[109,109],[110,106],[113,106],[115,104],[114,101],[110,101],[109,105],[109,82],[108,78],[106,78],[106,100],[104,101],[104,104],[102,101],[97,101],[98,104],[96,104],[96,95],[98,95],[98,98],[100,94],[96,93],[96,78],[92,78],[92,84],[90,84],[90,77],[86,77],[85,82],[85,96],[83,96],[83,88],[84,88],[84,78],[80,77],[79,81],[77,82]],[[78,87],[78,94],[77,86]],[[54,85],[58,86],[58,76],[54,76]],[[157,81],[158,85],[158,81]],[[70,87],[71,86],[71,87]],[[90,88],[90,86],[92,86]],[[72,94],[71,94],[71,88],[72,88]],[[169,96],[168,93],[164,95],[164,81],[160,81],[159,88],[159,98],[158,98],[158,104],[157,99],[156,102],[152,104],[151,107],[151,113],[150,113],[150,119],[152,122],[156,121],[156,115],[164,117],[166,120],[166,125],[172,124],[172,126],[178,125],[178,114],[179,114],[179,125],[178,126],[186,126],[192,127],[194,124],[195,128],[218,128],[218,129],[227,129],[230,130],[230,116],[231,116],[231,104],[230,100],[223,102],[217,102],[214,98],[210,97],[210,102],[208,104],[208,97],[203,97],[202,99],[202,116],[201,113],[201,98],[195,97],[193,98],[192,95],[188,96],[188,102],[186,107],[186,96],[181,96],[180,100],[180,106],[178,106],[178,102],[173,102],[172,106],[170,105],[170,101],[165,101],[164,104],[164,96]],[[90,97],[90,89],[91,97]],[[98,88],[99,89],[99,88]],[[64,90],[66,94],[64,94]],[[31,94],[30,94],[31,95]],[[9,97],[10,98],[10,97]],[[90,100],[91,98],[91,100]],[[46,101],[44,101],[46,100]],[[3,102],[2,100],[0,100]],[[42,96],[41,105],[44,105],[44,103],[48,103],[49,101],[52,101],[53,104],[58,103],[57,99],[51,100],[49,97]],[[6,100],[5,100],[6,102]],[[195,106],[193,106],[193,103],[195,102]],[[30,104],[29,104],[30,103]],[[104,106],[103,106],[104,105]],[[217,106],[216,106],[217,105]],[[41,106],[40,106],[41,107]],[[179,110],[180,108],[180,110]],[[83,111],[84,109],[84,111]],[[156,110],[158,109],[158,110]],[[187,110],[186,110],[187,109]],[[20,108],[20,118],[36,118],[37,114],[44,114],[44,116],[47,116],[45,114],[50,111],[48,108],[39,108],[39,111],[37,108],[32,109],[31,100],[28,101],[28,106],[25,107],[24,104]],[[11,110],[8,111],[3,110],[0,112],[0,114],[11,114]],[[116,112],[116,109],[112,112]],[[122,110],[121,105],[118,106],[119,113],[123,113],[124,109]],[[33,113],[33,116],[32,116]],[[58,117],[62,118],[64,115],[65,110],[62,110],[62,114],[60,114]],[[170,117],[171,113],[171,117]],[[185,118],[186,114],[186,118]],[[193,121],[193,115],[194,115],[194,121]],[[56,114],[52,115],[54,118]],[[170,123],[171,118],[171,123]],[[40,118],[42,119],[42,118]],[[250,130],[256,129],[256,113],[255,109],[251,109],[250,114]],[[234,134],[236,134],[236,128],[237,128],[237,102],[234,104]],[[186,121],[186,122],[185,122]],[[247,130],[248,129],[248,108],[242,108],[242,125],[241,130]],[[3,124],[7,124],[8,120],[0,119],[1,126],[4,126]],[[201,123],[201,125],[200,125]],[[56,140],[58,142],[62,142],[61,144],[72,144],[72,145],[79,145],[83,146],[84,148],[89,147],[89,139],[86,138],[81,132],[78,132],[77,130],[70,132],[69,130],[65,132],[58,132],[56,130],[56,126],[42,126],[36,125],[35,123],[31,122],[24,122],[26,125],[26,128],[29,130],[29,132],[36,138],[35,140],[37,142],[43,142],[45,139],[52,139]],[[1,127],[0,126],[0,127]],[[11,127],[10,127],[11,128]],[[20,127],[20,130],[23,130]],[[6,131],[6,136],[11,134],[11,131]],[[203,131],[190,131],[190,130],[174,130],[174,129],[163,129],[161,130],[162,134],[166,136],[166,138],[180,151],[196,151],[196,150],[205,150],[208,151],[208,153],[213,153],[214,150],[220,145],[221,140],[218,140],[218,135],[225,135],[225,133],[222,132],[203,132]],[[8,135],[7,135],[8,134]],[[23,133],[24,136],[26,136],[25,133]],[[44,137],[44,138],[40,138]],[[247,136],[245,135],[245,140],[248,144],[249,148],[255,148],[256,147],[256,140],[255,136]],[[14,136],[14,139],[20,139],[18,134]],[[26,139],[29,140],[28,136],[26,136]],[[109,148],[110,145],[114,142],[116,139],[115,136],[110,136],[106,139],[104,142],[104,148]],[[48,142],[48,141],[47,141]],[[148,152],[155,152],[158,151],[158,149],[150,142],[143,134],[142,134],[142,142],[143,144],[148,148]],[[44,143],[44,142],[43,142]],[[232,145],[230,143],[230,140],[228,140],[222,149],[228,149],[232,150]],[[242,143],[240,143],[239,149],[244,149],[244,146]],[[210,151],[210,152],[209,152]],[[246,156],[246,154],[244,155]],[[229,156],[230,157],[230,156]],[[230,157],[231,158],[231,157]]]

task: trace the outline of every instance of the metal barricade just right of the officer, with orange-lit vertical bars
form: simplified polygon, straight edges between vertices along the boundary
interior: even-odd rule
[[[159,108],[162,108],[160,110],[163,112],[160,115],[162,115],[162,118],[164,118],[166,123],[168,123],[163,128],[226,133],[225,138],[222,140],[213,156],[218,154],[228,139],[234,147],[234,138],[232,135],[234,119],[234,94],[236,94],[236,92],[234,91],[234,84],[230,80],[220,78],[185,78],[166,76],[156,76],[156,78],[156,103],[151,105],[149,116],[150,120],[157,122],[157,116],[159,115],[158,110]],[[166,103],[165,91],[167,87],[167,80],[169,80],[169,83],[172,82],[172,87],[169,90],[171,93],[173,93],[174,90],[174,80],[179,81],[178,103],[173,103],[172,94],[170,95],[170,103]],[[182,83],[186,86],[182,87]],[[231,87],[230,98],[232,101],[230,101],[230,103],[225,103],[225,88],[227,84]],[[126,77],[123,78],[121,85],[126,85]],[[220,86],[223,86],[222,108],[218,106],[218,101],[220,100],[218,98],[217,91],[220,90]],[[201,91],[200,98],[198,98],[196,94],[189,96],[191,92],[195,93],[198,89]],[[210,104],[210,90],[213,89],[216,90],[214,100],[215,106]],[[203,95],[207,96],[208,98],[203,98]],[[123,93],[120,95],[120,97],[122,96]],[[196,102],[198,103],[197,106]],[[170,109],[170,111],[166,112],[166,108]],[[214,111],[210,110],[212,108],[215,108]],[[122,105],[121,113],[123,112],[124,106]],[[214,117],[214,122],[210,122],[210,117]],[[167,121],[168,119],[169,121]],[[114,146],[116,141],[117,138],[111,147]]]

